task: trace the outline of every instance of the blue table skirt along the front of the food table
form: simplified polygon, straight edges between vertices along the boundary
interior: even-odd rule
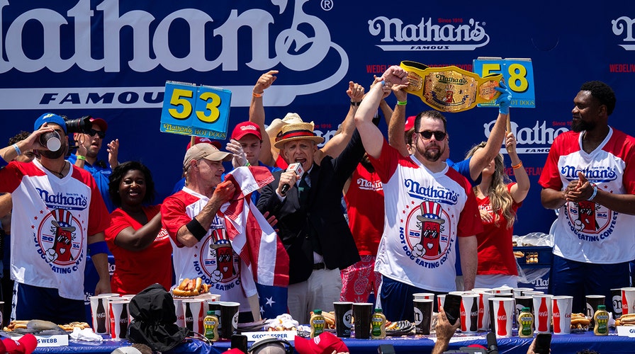
[[[455,336],[450,343],[449,350],[459,349],[470,344],[480,344],[487,346],[485,333],[481,333],[481,338],[476,341],[461,341],[460,336]],[[455,341],[458,340],[458,341]],[[434,346],[434,341],[422,336],[415,337],[388,337],[385,340],[355,339],[346,338],[344,343],[348,346],[351,354],[356,353],[377,353],[380,344],[392,344],[397,354],[402,353],[430,353]],[[500,338],[498,339],[499,353],[525,354],[531,338]],[[251,345],[252,343],[249,343]],[[35,353],[111,353],[120,346],[130,346],[127,341],[103,341],[100,343],[70,343],[67,347],[38,348]],[[213,346],[198,340],[188,340],[174,350],[166,353],[223,353],[230,348],[229,341],[215,342]],[[635,338],[620,337],[616,335],[595,336],[593,332],[573,333],[551,338],[551,353],[554,354],[575,354],[578,350],[592,349],[599,353],[635,353]]]

